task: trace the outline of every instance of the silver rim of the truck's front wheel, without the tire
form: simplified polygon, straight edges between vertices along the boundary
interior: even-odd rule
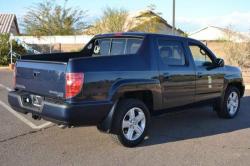
[[[239,107],[239,96],[236,92],[231,92],[227,99],[227,110],[230,115],[234,115]]]

